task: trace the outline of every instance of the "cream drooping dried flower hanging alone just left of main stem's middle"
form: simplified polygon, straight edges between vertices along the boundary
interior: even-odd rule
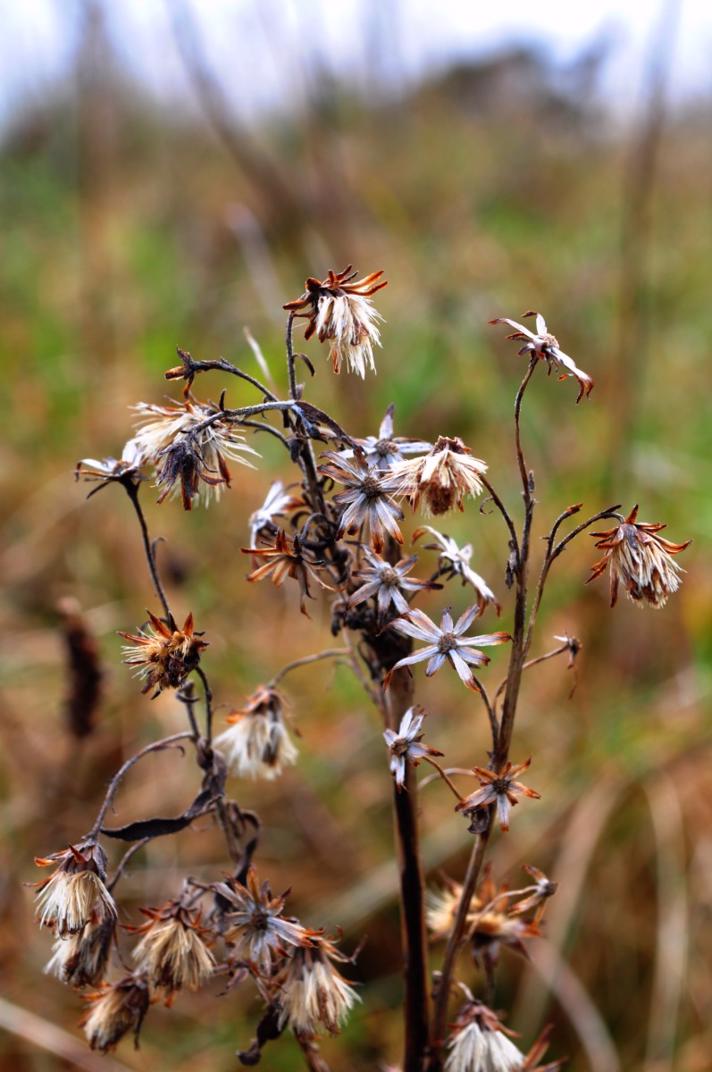
[[[284,725],[284,702],[276,688],[261,685],[244,706],[231,711],[229,729],[216,739],[216,747],[240,777],[279,777],[299,753]]]

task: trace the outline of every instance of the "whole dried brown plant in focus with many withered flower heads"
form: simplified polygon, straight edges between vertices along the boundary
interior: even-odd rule
[[[339,949],[323,928],[287,914],[288,894],[276,896],[269,882],[258,879],[254,860],[261,822],[232,799],[227,777],[229,772],[237,777],[275,779],[284,766],[298,761],[285,699],[277,686],[297,668],[339,659],[353,669],[383,717],[384,776],[388,777],[389,766],[400,861],[404,1072],[545,1072],[560,1067],[560,1061],[540,1063],[548,1042],[546,1029],[524,1053],[511,1041],[502,1014],[490,1008],[500,954],[503,950],[525,954],[557,889],[533,865],[525,868],[528,884],[514,890],[498,885],[486,863],[495,824],[505,833],[520,799],[539,798],[518,780],[531,760],[514,764],[510,759],[522,675],[560,655],[567,656],[569,668],[575,666],[580,643],[569,636],[558,637],[559,646],[552,651],[529,657],[550,570],[572,540],[596,521],[614,520],[610,531],[593,534],[605,554],[592,576],[609,567],[611,604],[622,581],[632,599],[655,608],[680,584],[681,569],[672,556],[686,544],[663,539],[661,524],[638,522],[637,507],[621,515],[618,505],[598,510],[562,535],[562,527],[581,510],[581,504],[576,504],[550,525],[538,577],[532,583],[532,524],[537,504],[521,438],[522,403],[542,361],[549,370],[557,366],[561,378],[576,379],[577,401],[593,387],[591,377],[560,348],[539,314],[524,314],[535,316],[535,332],[506,317],[492,322],[513,327],[510,338],[522,343],[520,353],[529,358],[514,411],[522,496],[519,520],[491,482],[487,463],[474,457],[456,434],[439,435],[434,445],[397,436],[389,406],[377,435],[352,435],[329,414],[308,403],[297,381],[297,360],[303,357],[294,351],[297,318],[307,321],[307,339],[315,336],[328,343],[335,373],[345,370],[364,377],[368,369],[375,370],[374,346],[381,345],[376,325],[382,317],[372,297],[386,285],[382,274],[372,272],[357,280],[348,267],[328,272],[324,280],[309,278],[302,296],[284,306],[288,313],[285,398],[278,398],[223,359],[197,361],[179,351],[179,364],[165,375],[184,382],[182,399],[170,405],[139,403],[135,407],[138,431],[119,460],[87,459],[77,464],[77,478],[95,485],[90,494],[116,485],[128,495],[160,605],[157,612],[149,612],[146,625],[121,634],[127,641],[124,661],[134,668],[144,693],[155,696],[172,690],[187,718],[184,731],[148,744],[123,763],[87,834],[70,848],[38,861],[55,867],[38,890],[39,921],[55,935],[47,970],[72,986],[94,987],[86,995],[84,1026],[90,1045],[102,1052],[129,1032],[137,1037],[152,1001],[169,1003],[180,991],[196,989],[222,977],[228,988],[251,984],[263,1004],[255,1038],[238,1055],[242,1063],[256,1064],[266,1045],[291,1032],[308,1068],[327,1069],[318,1053],[318,1037],[338,1033],[360,1001],[344,968],[354,956]],[[218,404],[199,401],[193,393],[195,384],[213,370],[235,376],[256,392],[257,400],[235,407],[226,405],[224,394]],[[277,438],[296,468],[294,482],[272,483],[264,504],[250,518],[250,538],[242,549],[251,562],[248,580],[268,579],[278,586],[294,582],[295,609],[298,606],[305,614],[313,600],[328,600],[332,631],[344,636],[344,645],[297,658],[276,669],[271,681],[255,682],[252,695],[231,710],[225,729],[216,736],[213,695],[204,665],[208,642],[196,630],[193,615],[183,610],[177,617],[168,601],[142,491],[152,481],[159,502],[177,496],[187,510],[219,498],[233,482],[228,462],[252,465],[247,456],[258,458],[246,442],[248,432]],[[404,555],[406,537],[401,525],[404,506],[440,517],[463,510],[468,500],[485,494],[503,523],[505,583],[513,590],[514,608],[506,630],[473,635],[475,621],[488,611],[499,616],[501,606],[493,589],[471,565],[472,545],[460,547],[439,528],[421,525],[413,533],[413,544],[425,534],[431,542],[419,545],[417,554]],[[418,579],[412,571],[418,555],[429,551],[435,553],[430,574],[424,568],[427,579]],[[457,621],[442,604],[433,617],[413,606],[416,600],[436,604],[440,597],[433,593],[453,581],[475,596],[473,606]],[[421,646],[414,650],[414,642]],[[480,676],[487,674],[490,662],[483,649],[502,645],[507,645],[506,655],[495,653],[494,658],[508,658],[506,673],[501,685],[492,688]],[[426,675],[446,666],[455,670],[469,690],[462,693],[463,703],[480,704],[488,719],[491,746],[487,756],[458,757],[466,761],[470,772],[442,766],[437,761],[442,751],[424,740],[426,712],[415,701],[420,662],[426,664]],[[192,746],[202,772],[201,791],[190,807],[174,818],[107,825],[119,785],[143,757],[186,743]],[[444,887],[428,894],[414,776],[419,763],[434,769],[433,777],[455,796],[455,812],[462,814],[474,835],[463,878],[446,878]],[[469,791],[460,791],[453,777],[469,773],[474,784]],[[176,835],[204,816],[212,817],[224,835],[227,877],[224,862],[212,881],[187,876],[180,890],[164,891],[167,899],[162,907],[144,908],[147,923],[117,928],[115,890],[129,859],[151,838]],[[109,877],[103,846],[116,840],[129,843],[129,848],[114,862]],[[427,928],[433,942],[445,943],[432,974]],[[122,950],[129,935],[137,936],[131,959]],[[461,970],[468,970],[458,961],[468,949],[484,972],[481,999],[458,978]],[[132,962],[134,970],[127,974],[127,964]],[[459,1008],[458,994],[464,996]]]

